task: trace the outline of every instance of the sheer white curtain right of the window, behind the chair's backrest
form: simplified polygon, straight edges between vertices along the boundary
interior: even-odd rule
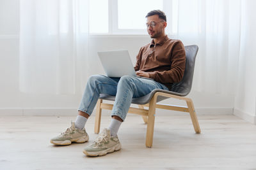
[[[177,0],[174,5],[174,38],[199,46],[193,90],[234,94],[241,45],[241,1]]]

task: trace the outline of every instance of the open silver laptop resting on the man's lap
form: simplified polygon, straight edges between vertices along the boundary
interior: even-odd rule
[[[101,64],[109,77],[136,76],[128,50],[98,52]],[[145,78],[136,76],[139,78]],[[146,78],[153,80],[152,78]]]

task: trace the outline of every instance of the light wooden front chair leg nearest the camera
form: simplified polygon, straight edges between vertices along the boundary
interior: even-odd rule
[[[154,136],[154,124],[155,124],[155,116],[156,116],[156,98],[154,95],[149,102],[148,106],[148,125],[147,125],[147,136],[146,136],[146,146],[148,148],[152,147],[153,144],[153,136]]]

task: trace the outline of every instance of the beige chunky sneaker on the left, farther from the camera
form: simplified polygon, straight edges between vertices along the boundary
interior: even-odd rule
[[[77,129],[75,123],[71,122],[71,127],[65,132],[62,132],[59,136],[51,139],[51,143],[54,145],[70,145],[72,142],[84,143],[89,140],[89,136],[85,129]]]

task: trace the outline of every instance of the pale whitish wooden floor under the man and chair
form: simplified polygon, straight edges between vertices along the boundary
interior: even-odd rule
[[[200,115],[195,134],[186,113],[156,117],[153,148],[146,125],[128,115],[118,136],[122,150],[86,157],[88,143],[53,146],[49,140],[74,117],[1,117],[0,169],[256,169],[256,126],[232,115]],[[110,117],[102,117],[108,127]],[[92,141],[94,117],[86,124]]]

